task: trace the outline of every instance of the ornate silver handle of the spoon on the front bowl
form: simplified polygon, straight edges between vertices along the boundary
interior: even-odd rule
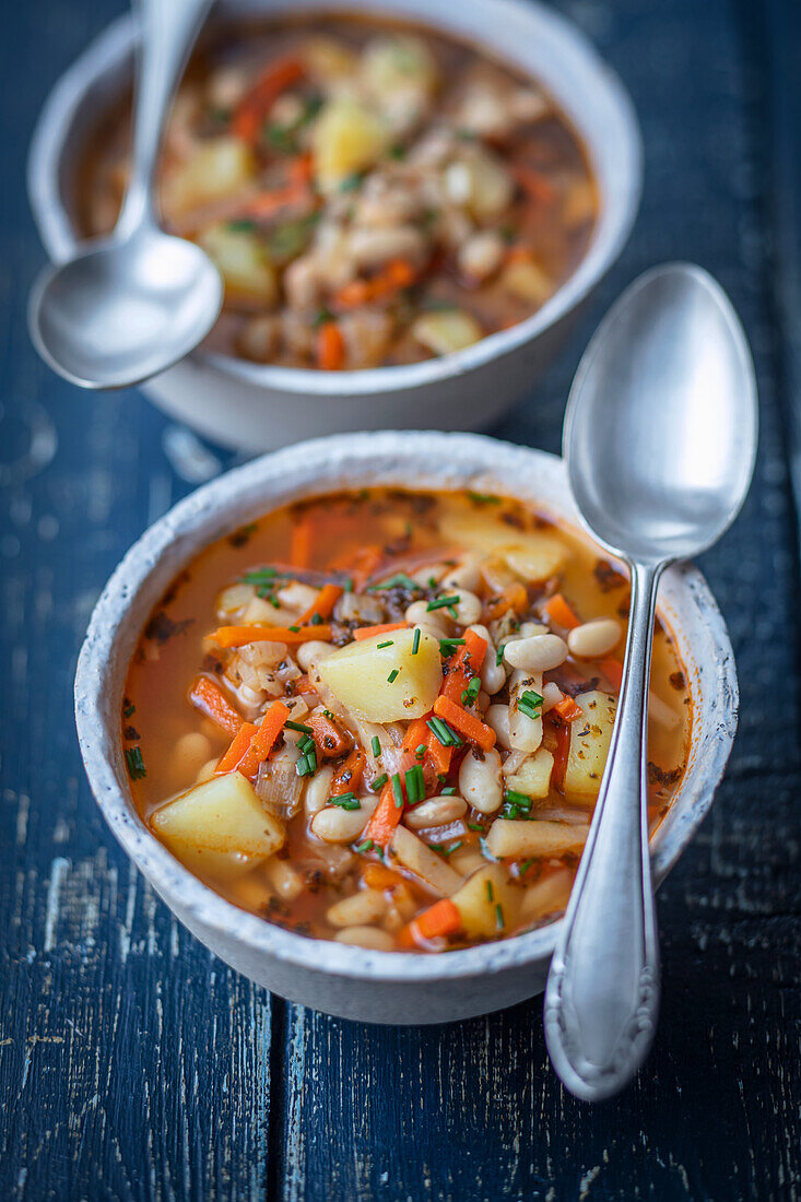
[[[598,1101],[642,1064],[659,1005],[659,946],[648,857],[647,698],[659,576],[631,567],[623,683],[589,837],[545,992],[553,1066]]]

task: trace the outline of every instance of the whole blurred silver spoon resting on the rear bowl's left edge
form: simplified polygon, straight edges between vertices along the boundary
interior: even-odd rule
[[[164,233],[153,182],[165,114],[212,0],[140,0],[142,59],[131,178],[119,220],[34,285],[36,350],[83,388],[121,388],[164,371],[203,340],[222,304],[208,255]]]

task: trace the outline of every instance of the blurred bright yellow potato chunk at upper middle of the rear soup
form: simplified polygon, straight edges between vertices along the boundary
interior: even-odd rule
[[[388,139],[381,118],[350,96],[328,101],[312,133],[314,171],[322,192],[333,192],[348,175],[372,166]]]

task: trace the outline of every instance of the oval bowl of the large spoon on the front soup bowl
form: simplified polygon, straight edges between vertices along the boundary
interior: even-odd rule
[[[570,392],[564,454],[587,525],[643,561],[696,555],[736,517],[755,453],[754,371],[725,293],[693,263],[646,272]]]

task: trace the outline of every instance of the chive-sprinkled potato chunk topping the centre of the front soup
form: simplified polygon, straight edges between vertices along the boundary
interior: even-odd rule
[[[379,643],[391,645],[379,648]],[[318,671],[334,697],[368,722],[422,718],[437,701],[443,666],[433,635],[421,631],[416,654],[413,645],[414,630],[394,630],[349,643]]]

